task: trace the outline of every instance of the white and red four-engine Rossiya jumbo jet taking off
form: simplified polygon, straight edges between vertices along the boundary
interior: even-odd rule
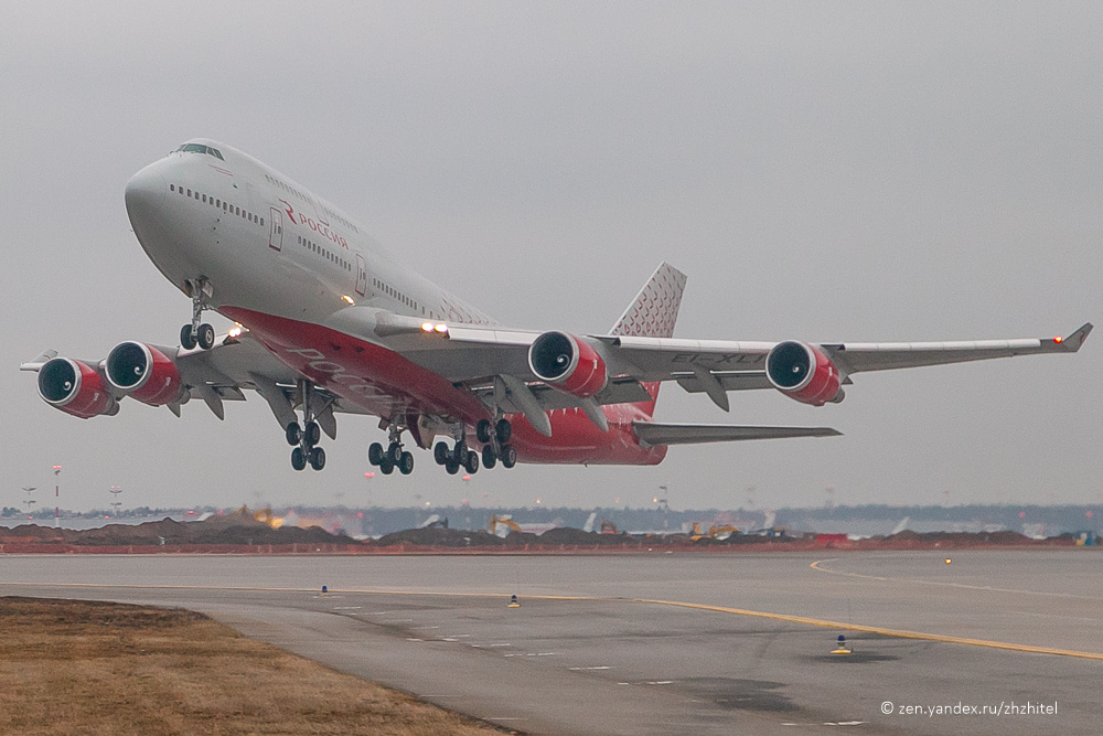
[[[136,173],[126,207],[147,256],[192,301],[179,345],[125,341],[106,359],[46,351],[23,363],[42,398],[81,418],[131,397],[180,416],[193,398],[225,418],[254,391],[291,467],[321,470],[336,415],[378,417],[367,460],[414,470],[404,435],[456,474],[499,462],[657,465],[672,445],[828,437],[831,427],[654,420],[663,382],[704,393],[770,390],[813,406],[843,401],[856,373],[1037,353],[1068,338],[811,343],[674,338],[686,276],[663,263],[613,327],[571,334],[503,326],[418,276],[352,217],[231,146],[193,139]],[[215,335],[214,310],[235,322]],[[301,419],[300,419],[301,416]],[[445,438],[445,439],[438,439]],[[450,440],[450,441],[446,441]]]

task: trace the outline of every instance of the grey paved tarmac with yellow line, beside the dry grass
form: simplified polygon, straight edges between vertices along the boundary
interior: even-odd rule
[[[528,733],[1088,730],[1103,556],[950,558],[3,556],[0,594],[186,606]]]

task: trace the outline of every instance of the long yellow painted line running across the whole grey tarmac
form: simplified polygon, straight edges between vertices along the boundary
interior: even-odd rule
[[[817,561],[831,562],[831,561]],[[815,566],[817,563],[813,563]],[[834,572],[821,569],[821,572]],[[839,575],[853,575],[853,573],[838,573]],[[858,576],[872,577],[872,576]],[[878,578],[887,579],[887,578]],[[105,589],[121,588],[127,590],[227,590],[227,591],[257,591],[257,593],[317,593],[315,588],[263,588],[263,587],[218,587],[202,585],[103,585],[97,583],[2,583],[0,587],[35,587],[35,588],[87,588]],[[507,595],[501,593],[454,593],[454,591],[431,591],[431,590],[372,590],[342,588],[332,589],[332,593],[360,594],[360,595],[384,595],[384,596],[433,596],[454,598],[506,598]],[[1032,647],[1029,644],[1016,644],[1005,641],[989,641],[986,639],[970,639],[966,637],[950,637],[939,633],[924,633],[922,631],[907,631],[903,629],[887,629],[878,626],[863,626],[860,623],[843,623],[842,621],[831,621],[827,619],[811,618],[807,616],[792,616],[789,614],[771,614],[768,611],[754,611],[746,608],[729,608],[727,606],[710,606],[707,604],[694,604],[683,600],[662,600],[652,598],[607,598],[598,596],[550,596],[550,595],[525,595],[528,600],[575,600],[592,602],[628,602],[645,604],[651,606],[674,606],[677,608],[688,608],[692,610],[713,611],[717,614],[729,614],[733,616],[746,616],[750,618],[771,619],[774,621],[785,621],[786,623],[800,623],[804,626],[815,626],[825,629],[842,629],[844,631],[861,631],[864,633],[876,633],[896,639],[918,639],[921,641],[938,641],[949,644],[967,644],[970,647],[986,647],[988,649],[1002,649],[1013,652],[1026,652],[1030,654],[1051,654],[1056,657],[1075,657],[1080,659],[1103,661],[1103,653],[1082,652],[1072,649],[1053,649],[1050,647]]]

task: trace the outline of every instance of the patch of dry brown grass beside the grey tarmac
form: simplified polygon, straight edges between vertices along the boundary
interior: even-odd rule
[[[0,598],[0,733],[501,734],[191,611]]]

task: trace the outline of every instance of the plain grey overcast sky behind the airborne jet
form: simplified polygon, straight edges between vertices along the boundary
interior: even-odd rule
[[[264,401],[126,401],[81,420],[20,361],[174,344],[190,302],[127,220],[129,177],[204,136],[351,214],[518,327],[607,331],[663,259],[675,335],[955,340],[1103,319],[1100,3],[7,3],[0,504],[737,508],[1103,504],[1103,335],[1075,356],[861,374],[838,406],[660,420],[828,425],[671,449],[657,468],[518,466],[367,481],[364,417],[291,470]],[[371,494],[371,495],[370,495]],[[52,492],[50,493],[52,495]],[[420,498],[419,498],[420,497]],[[53,505],[40,498],[40,504]]]

